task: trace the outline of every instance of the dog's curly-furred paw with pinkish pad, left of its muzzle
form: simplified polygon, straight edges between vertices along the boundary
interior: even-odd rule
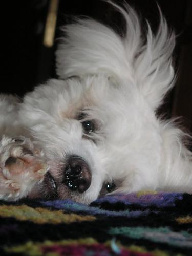
[[[27,196],[32,187],[41,182],[48,170],[40,150],[29,150],[28,145],[15,145],[0,169],[0,196],[17,200]]]

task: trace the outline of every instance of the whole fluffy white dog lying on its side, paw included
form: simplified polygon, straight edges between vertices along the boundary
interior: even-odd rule
[[[173,87],[175,35],[160,12],[146,36],[136,12],[113,4],[126,34],[92,19],[63,30],[57,74],[22,103],[1,96],[0,196],[89,204],[141,189],[192,192],[191,152],[173,121],[156,116]]]

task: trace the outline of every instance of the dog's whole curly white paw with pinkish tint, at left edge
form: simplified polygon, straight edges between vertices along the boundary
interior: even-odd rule
[[[25,137],[0,142],[0,199],[26,197],[33,186],[44,179],[48,165],[40,150]]]

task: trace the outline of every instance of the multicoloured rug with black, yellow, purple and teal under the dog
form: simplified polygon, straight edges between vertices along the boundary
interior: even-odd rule
[[[192,195],[143,192],[0,205],[0,255],[192,255]]]

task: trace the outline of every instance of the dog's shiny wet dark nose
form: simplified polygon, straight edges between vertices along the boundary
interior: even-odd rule
[[[70,156],[65,167],[65,182],[72,190],[79,193],[86,191],[91,185],[89,165],[81,157]]]

